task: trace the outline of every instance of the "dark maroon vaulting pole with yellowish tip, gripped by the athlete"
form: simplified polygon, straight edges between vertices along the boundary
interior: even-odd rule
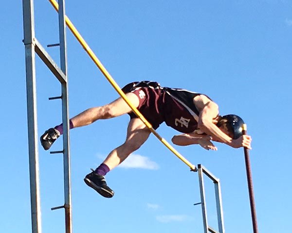
[[[247,126],[246,124],[242,125],[242,134],[246,135]],[[256,204],[255,204],[255,195],[253,188],[253,179],[252,179],[252,169],[249,158],[249,150],[247,148],[243,148],[244,150],[244,158],[245,158],[245,166],[246,166],[246,175],[247,175],[247,183],[248,183],[248,192],[250,198],[251,212],[252,212],[252,221],[253,221],[253,229],[254,233],[258,233],[257,230],[257,222],[256,222]]]

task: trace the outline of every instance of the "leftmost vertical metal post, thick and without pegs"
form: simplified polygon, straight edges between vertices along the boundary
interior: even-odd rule
[[[28,149],[31,191],[32,233],[41,233],[39,163],[37,148],[37,95],[35,63],[35,22],[33,0],[22,0],[26,66]]]

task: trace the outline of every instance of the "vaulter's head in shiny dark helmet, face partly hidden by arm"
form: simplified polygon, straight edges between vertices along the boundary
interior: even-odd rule
[[[218,123],[216,124],[224,133],[237,139],[242,135],[242,125],[244,121],[237,115],[219,116]]]

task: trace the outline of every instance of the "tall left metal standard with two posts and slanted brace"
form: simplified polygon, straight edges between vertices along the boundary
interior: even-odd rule
[[[64,161],[64,196],[65,204],[53,209],[65,209],[66,233],[72,233],[71,210],[71,176],[70,176],[70,146],[69,146],[69,114],[68,114],[68,84],[66,62],[66,31],[65,31],[65,3],[59,0],[59,39],[60,61],[59,68],[46,50],[35,37],[34,1],[22,0],[23,29],[26,61],[26,90],[27,90],[27,118],[29,141],[29,166],[30,166],[30,190],[31,190],[31,217],[32,233],[41,233],[41,210],[39,195],[39,163],[38,163],[38,136],[37,136],[37,100],[36,100],[36,67],[35,52],[49,67],[55,77],[61,83],[62,96],[62,121],[64,126],[63,153]]]

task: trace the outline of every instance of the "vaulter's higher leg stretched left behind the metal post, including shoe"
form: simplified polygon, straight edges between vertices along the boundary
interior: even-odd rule
[[[138,107],[139,98],[133,93],[128,93],[126,95],[133,106]],[[123,114],[129,113],[130,111],[131,108],[128,106],[126,101],[124,101],[122,98],[119,98],[107,105],[90,108],[78,114],[77,116],[74,116],[72,119],[70,119],[70,129],[89,125],[99,119],[109,119],[116,116],[121,116]],[[61,134],[63,134],[62,124],[56,126],[55,128],[50,128],[41,135],[41,145],[45,150],[49,150],[52,144]]]

